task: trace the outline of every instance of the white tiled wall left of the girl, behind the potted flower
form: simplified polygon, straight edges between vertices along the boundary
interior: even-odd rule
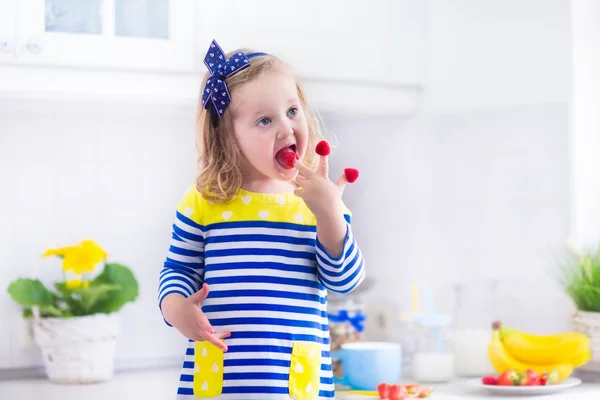
[[[0,368],[39,363],[23,348],[8,283],[60,278],[60,261],[42,253],[85,238],[140,281],[139,301],[124,309],[121,364],[180,354],[157,313],[156,283],[174,207],[195,173],[194,118],[194,107],[0,103]]]

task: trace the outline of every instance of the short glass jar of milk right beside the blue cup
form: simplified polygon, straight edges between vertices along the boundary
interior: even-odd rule
[[[451,342],[452,317],[448,314],[416,316],[412,377],[419,382],[448,382],[454,378]]]

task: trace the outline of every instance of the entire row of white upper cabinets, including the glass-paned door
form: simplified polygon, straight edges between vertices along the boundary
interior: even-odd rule
[[[216,39],[226,52],[289,62],[320,110],[411,113],[424,84],[424,3],[0,0],[0,97],[193,106]]]

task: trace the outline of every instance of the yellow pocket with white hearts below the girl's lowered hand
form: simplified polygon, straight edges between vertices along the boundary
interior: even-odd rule
[[[223,350],[210,342],[194,343],[194,397],[217,397],[223,391]]]

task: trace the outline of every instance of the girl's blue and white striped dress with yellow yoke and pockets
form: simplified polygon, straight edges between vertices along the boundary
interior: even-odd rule
[[[350,211],[341,208],[347,234],[342,255],[332,257],[293,193],[240,190],[220,204],[190,186],[177,206],[159,307],[168,294],[187,297],[206,282],[202,311],[231,337],[225,353],[189,341],[177,399],[334,398],[327,291],[349,293],[365,276]]]

